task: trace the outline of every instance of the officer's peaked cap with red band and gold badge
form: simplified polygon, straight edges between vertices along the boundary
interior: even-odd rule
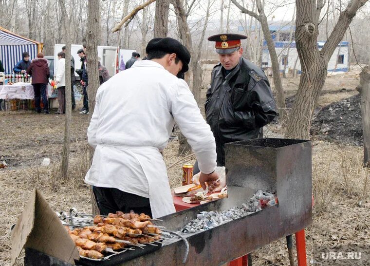
[[[218,54],[227,55],[234,53],[241,46],[241,39],[246,39],[245,35],[222,33],[208,37],[208,40],[215,41],[215,48]]]

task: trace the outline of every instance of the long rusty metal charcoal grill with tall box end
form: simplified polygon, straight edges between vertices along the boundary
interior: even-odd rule
[[[157,224],[180,231],[200,212],[241,206],[256,190],[274,192],[278,205],[215,228],[185,234],[189,243],[185,265],[221,265],[312,223],[310,141],[260,138],[233,142],[225,145],[225,158],[228,198],[164,216],[163,222]],[[35,252],[26,250],[26,265],[36,265],[31,258]],[[127,262],[105,265],[181,265],[185,253],[184,241],[166,240],[156,251]]]

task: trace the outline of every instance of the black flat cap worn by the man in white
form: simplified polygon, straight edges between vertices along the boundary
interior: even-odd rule
[[[169,54],[174,53],[183,63],[181,73],[185,73],[189,70],[190,53],[178,40],[168,37],[151,39],[148,42],[145,52],[149,54],[151,51],[163,51]]]

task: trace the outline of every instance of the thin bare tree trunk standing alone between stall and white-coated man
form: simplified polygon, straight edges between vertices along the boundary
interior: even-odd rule
[[[68,159],[70,153],[70,124],[72,120],[72,98],[71,98],[71,39],[68,38],[70,36],[70,23],[67,15],[66,5],[64,0],[59,0],[59,5],[62,13],[63,19],[63,29],[64,29],[64,36],[66,36],[66,55],[65,55],[65,98],[66,98],[66,105],[64,106],[64,110],[66,112],[65,116],[65,127],[64,127],[64,143],[63,143],[63,152],[62,152],[62,178],[68,178]]]

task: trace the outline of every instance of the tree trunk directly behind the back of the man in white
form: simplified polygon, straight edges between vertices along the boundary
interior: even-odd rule
[[[99,88],[99,71],[98,71],[98,51],[97,46],[100,40],[100,0],[89,0],[88,4],[88,28],[87,28],[87,69],[88,69],[88,98],[89,98],[89,121],[91,120],[92,113],[95,107],[95,96],[96,91]],[[90,160],[92,161],[92,155],[94,150],[90,147]],[[97,208],[95,197],[93,196],[92,189],[91,202],[92,202],[92,213],[99,213]]]

